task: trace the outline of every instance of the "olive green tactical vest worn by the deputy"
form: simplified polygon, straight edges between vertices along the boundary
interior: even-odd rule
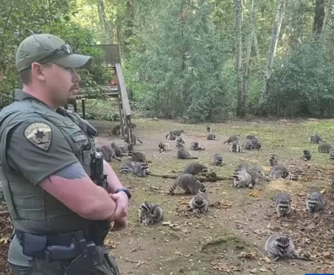
[[[87,134],[87,121],[71,111],[58,109],[55,112],[33,100],[18,101],[5,107],[0,112],[0,180],[13,225],[18,230],[32,234],[53,235],[84,229],[90,220],[77,215],[43,189],[28,182],[22,173],[14,171],[8,164],[7,138],[11,129],[27,120],[38,122],[40,118],[60,129],[76,158],[90,175],[95,145]],[[20,199],[27,196],[31,199]]]

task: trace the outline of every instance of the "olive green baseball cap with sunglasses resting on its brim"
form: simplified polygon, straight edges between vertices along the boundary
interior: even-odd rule
[[[64,40],[53,34],[42,33],[25,38],[16,52],[19,72],[30,68],[33,62],[52,62],[67,68],[86,69],[92,64],[92,57],[75,55]]]

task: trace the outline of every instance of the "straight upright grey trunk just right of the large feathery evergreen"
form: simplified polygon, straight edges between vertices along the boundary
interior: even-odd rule
[[[237,116],[243,116],[245,95],[242,85],[242,0],[235,0],[235,34],[235,61],[238,82]]]

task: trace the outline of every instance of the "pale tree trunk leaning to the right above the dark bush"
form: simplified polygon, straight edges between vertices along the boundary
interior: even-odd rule
[[[260,106],[261,106],[262,112],[264,111],[264,104],[266,103],[267,96],[268,96],[268,84],[269,84],[272,68],[275,62],[275,52],[276,52],[277,42],[279,38],[279,33],[281,30],[282,21],[284,18],[284,12],[285,12],[285,0],[279,0],[275,22],[274,22],[273,30],[271,33],[268,60],[267,60],[266,68],[265,68],[265,74],[264,74],[264,87],[263,87],[262,96],[260,99],[261,100]]]

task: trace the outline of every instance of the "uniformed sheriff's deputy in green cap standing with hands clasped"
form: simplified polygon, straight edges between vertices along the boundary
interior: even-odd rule
[[[31,35],[18,47],[23,89],[0,112],[0,181],[15,228],[8,253],[14,274],[119,274],[103,240],[111,221],[112,230],[126,227],[131,195],[96,152],[96,130],[60,108],[75,98],[76,69],[91,62],[51,34]]]

